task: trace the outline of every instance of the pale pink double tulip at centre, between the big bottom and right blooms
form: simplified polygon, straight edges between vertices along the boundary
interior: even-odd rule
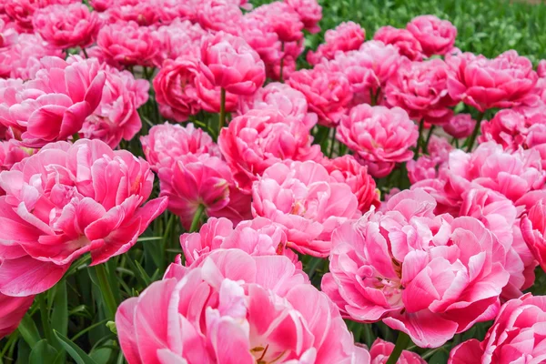
[[[252,213],[285,227],[289,248],[315,257],[328,257],[332,231],[361,215],[349,185],[313,161],[268,167],[252,187]]]

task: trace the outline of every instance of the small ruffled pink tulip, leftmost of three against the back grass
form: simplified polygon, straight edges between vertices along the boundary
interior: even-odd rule
[[[341,23],[334,29],[329,29],[324,35],[325,43],[319,45],[317,52],[308,52],[308,63],[317,65],[323,58],[333,59],[338,52],[349,52],[359,49],[366,38],[366,30],[360,25],[347,22]]]

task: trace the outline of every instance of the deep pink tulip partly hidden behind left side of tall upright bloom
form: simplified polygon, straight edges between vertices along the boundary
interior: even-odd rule
[[[157,104],[161,115],[177,122],[200,110],[195,78],[198,61],[189,57],[167,59],[154,78]]]

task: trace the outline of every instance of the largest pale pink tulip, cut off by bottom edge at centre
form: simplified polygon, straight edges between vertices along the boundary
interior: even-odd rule
[[[173,277],[173,278],[170,278]],[[130,364],[369,363],[329,298],[286,257],[221,249],[171,269],[116,313]]]

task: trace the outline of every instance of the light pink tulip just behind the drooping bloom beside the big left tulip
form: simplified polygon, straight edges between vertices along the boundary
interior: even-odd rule
[[[191,123],[185,127],[168,123],[152,126],[147,136],[140,137],[140,143],[155,172],[160,167],[173,167],[180,157],[189,154],[221,156],[212,138]]]

